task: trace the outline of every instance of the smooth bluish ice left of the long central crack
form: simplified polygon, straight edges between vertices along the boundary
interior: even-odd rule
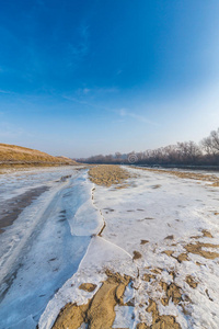
[[[0,328],[35,328],[48,300],[78,270],[91,235],[103,225],[100,213],[89,202],[93,184],[84,170],[48,170],[47,175],[45,171],[42,175],[38,172],[31,178],[28,172],[26,180],[31,180],[32,186],[35,179],[37,185],[49,183],[50,190],[27,206],[0,236]],[[64,175],[68,178],[61,180]],[[20,182],[22,186],[28,185],[24,180],[23,173],[21,181],[14,177],[18,192]],[[11,185],[13,178],[8,181]],[[9,193],[7,196],[10,197]],[[77,216],[81,207],[83,217]],[[83,226],[87,229],[78,234],[77,227]]]

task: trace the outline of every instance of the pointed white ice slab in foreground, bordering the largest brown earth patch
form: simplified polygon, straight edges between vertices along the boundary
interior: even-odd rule
[[[77,302],[78,305],[87,304],[106,280],[105,271],[110,269],[116,271],[119,268],[120,273],[135,275],[131,266],[131,257],[124,252],[119,247],[102,239],[94,237],[88,248],[78,272],[66,282],[58,291],[55,297],[49,302],[39,320],[39,328],[48,329],[53,326],[60,308],[67,303]],[[93,293],[79,290],[81,283],[90,282],[97,285]]]

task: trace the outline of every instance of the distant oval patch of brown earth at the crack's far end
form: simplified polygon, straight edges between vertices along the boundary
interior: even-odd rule
[[[114,184],[119,184],[119,188],[125,188],[125,181],[130,178],[127,170],[114,164],[100,164],[93,167],[89,170],[90,180],[103,186],[112,186]]]

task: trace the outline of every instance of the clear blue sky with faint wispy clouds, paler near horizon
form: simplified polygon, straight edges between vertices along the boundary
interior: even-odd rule
[[[0,141],[87,157],[219,126],[218,0],[1,0]]]

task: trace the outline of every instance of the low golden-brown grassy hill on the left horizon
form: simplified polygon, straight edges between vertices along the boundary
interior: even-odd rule
[[[45,152],[16,145],[0,144],[0,166],[61,166],[77,164],[66,157],[53,157]]]

